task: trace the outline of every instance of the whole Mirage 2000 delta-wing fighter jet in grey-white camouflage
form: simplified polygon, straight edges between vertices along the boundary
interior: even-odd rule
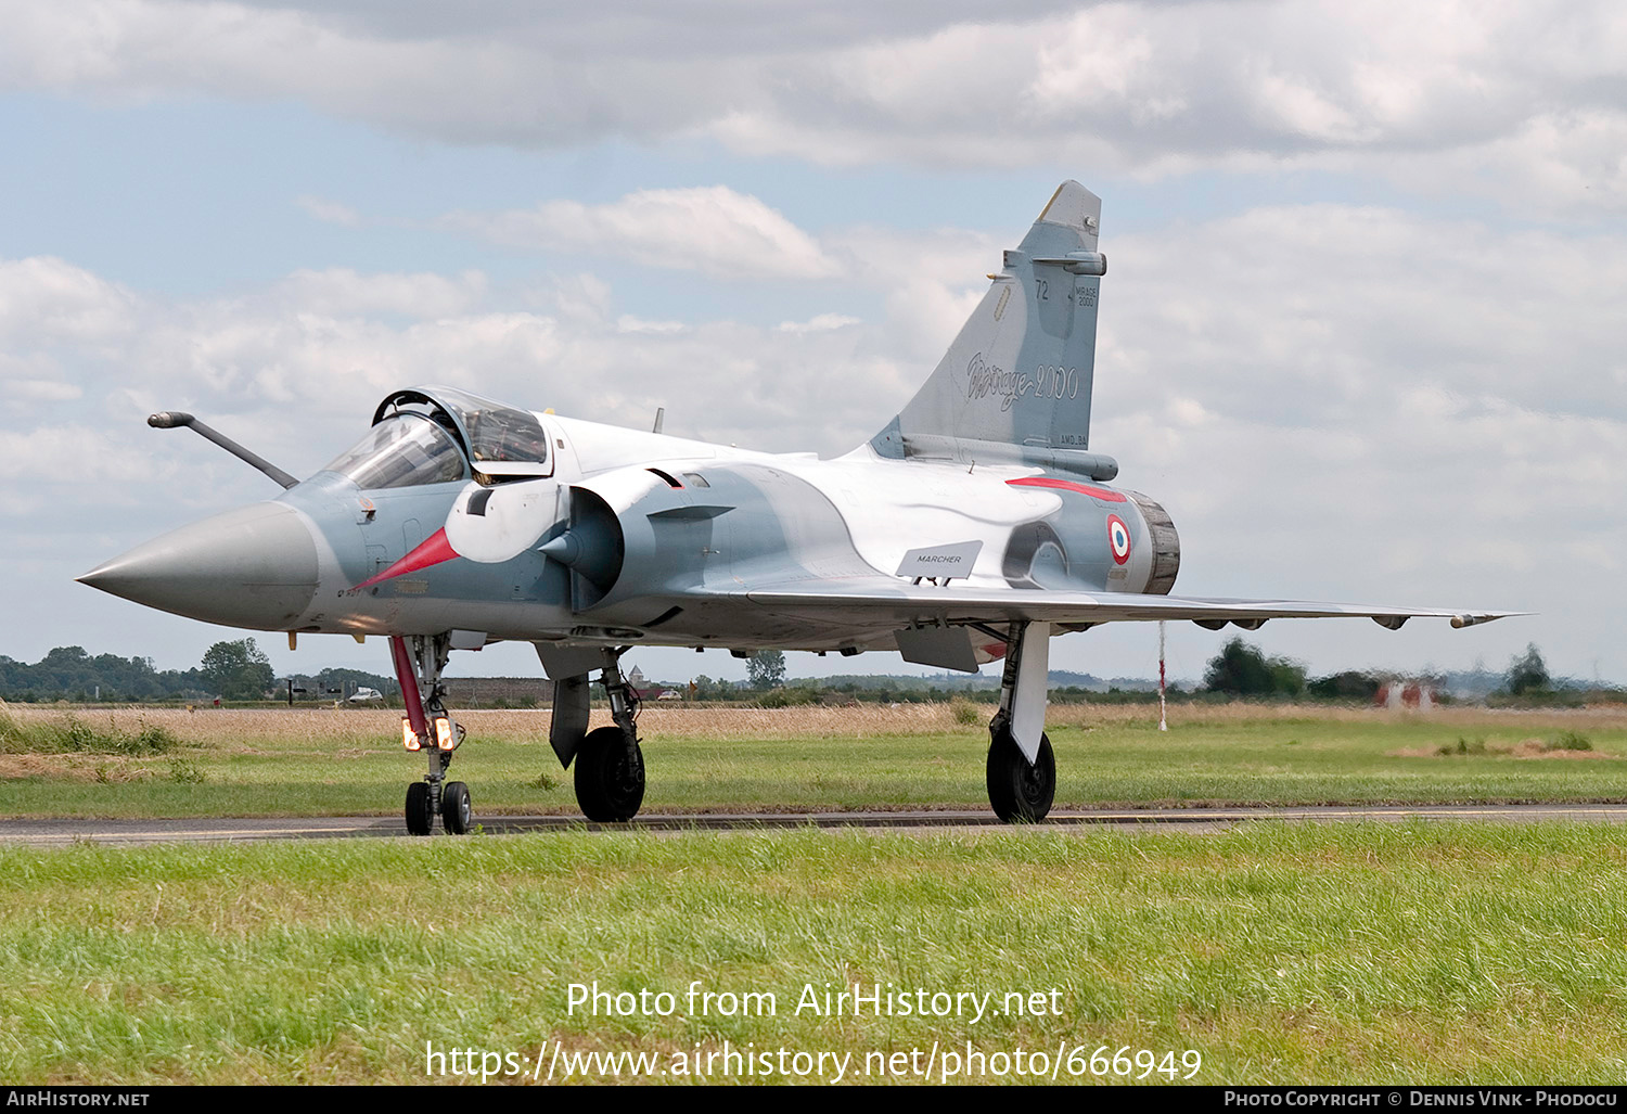
[[[591,820],[644,799],[635,646],[859,654],[975,672],[1004,657],[988,789],[1007,821],[1045,818],[1054,634],[1126,620],[1254,629],[1269,618],[1498,613],[1170,595],[1175,524],[1111,486],[1090,449],[1101,202],[1064,182],[908,405],[844,457],[750,452],[519,410],[451,387],[395,390],[355,447],[304,481],[184,413],[277,480],[270,503],[182,527],[80,581],[259,631],[389,639],[426,751],[407,828],[470,826],[446,769],[464,732],[443,703],[452,651],[532,642],[555,683],[548,742]],[[613,725],[587,730],[589,677]]]

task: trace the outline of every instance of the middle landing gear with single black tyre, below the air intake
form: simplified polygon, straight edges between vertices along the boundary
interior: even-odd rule
[[[638,745],[638,693],[622,677],[622,651],[602,654],[599,683],[610,701],[608,727],[587,730],[587,673],[563,677],[553,686],[553,724],[548,742],[561,766],[576,763],[576,803],[597,823],[623,823],[644,803],[644,751]],[[543,659],[547,664],[548,659]],[[578,660],[576,668],[591,668]]]

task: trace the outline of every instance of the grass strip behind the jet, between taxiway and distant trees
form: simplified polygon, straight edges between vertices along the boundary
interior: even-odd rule
[[[988,732],[957,711],[652,707],[639,720],[644,808],[981,808]],[[1427,716],[1178,706],[1168,733],[1154,716],[1053,707],[1058,807],[1627,800],[1620,706]],[[470,737],[452,776],[470,784],[477,816],[576,812],[571,777],[547,745],[547,712],[460,719]],[[1590,750],[1547,750],[1577,737]],[[423,764],[397,738],[389,711],[13,706],[0,716],[0,815],[389,815]]]

